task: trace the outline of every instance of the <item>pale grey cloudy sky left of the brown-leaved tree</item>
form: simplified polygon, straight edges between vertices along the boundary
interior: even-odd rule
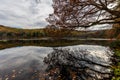
[[[42,28],[53,12],[52,0],[0,0],[0,25],[17,28]]]

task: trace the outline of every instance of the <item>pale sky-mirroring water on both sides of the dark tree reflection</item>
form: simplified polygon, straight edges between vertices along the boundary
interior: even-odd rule
[[[112,52],[108,47],[99,45],[74,45],[56,48],[72,51],[74,53],[72,55],[75,57],[81,55],[81,53],[78,53],[80,50],[88,51],[89,53],[84,56],[84,59],[94,61],[96,64],[91,65],[77,61],[78,63],[96,72],[110,72],[110,69],[106,68],[106,66],[111,64],[110,57],[112,56]],[[45,57],[50,58],[53,56],[51,53],[54,50],[53,47],[40,46],[18,46],[0,50],[0,80],[54,80],[49,76],[45,77],[49,73],[46,73],[48,64],[44,62]],[[64,58],[60,55],[58,59],[63,63],[67,62],[68,60]],[[78,65],[78,63],[72,64],[71,62],[71,65]],[[65,64],[67,65],[67,63]],[[95,75],[98,74],[95,73]]]

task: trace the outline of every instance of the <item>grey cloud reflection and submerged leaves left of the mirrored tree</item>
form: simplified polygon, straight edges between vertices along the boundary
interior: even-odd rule
[[[0,77],[2,80],[38,80],[43,77],[43,59],[51,53],[48,47],[17,47],[0,51]]]

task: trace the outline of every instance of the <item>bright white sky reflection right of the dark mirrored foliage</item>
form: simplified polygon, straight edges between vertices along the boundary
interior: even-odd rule
[[[109,68],[103,67],[109,66],[111,64],[111,56],[112,51],[109,47],[104,46],[98,46],[98,45],[77,45],[77,46],[68,46],[64,49],[69,49],[70,51],[73,51],[71,55],[73,54],[76,58],[83,58],[84,60],[88,60],[91,62],[94,62],[96,64],[92,63],[86,63],[81,61],[81,64],[84,66],[89,67],[90,69],[99,71],[99,72],[110,72]],[[87,53],[80,52],[80,51],[87,51]],[[63,61],[64,62],[64,61]],[[80,61],[79,61],[80,62]],[[98,65],[99,64],[99,65]]]

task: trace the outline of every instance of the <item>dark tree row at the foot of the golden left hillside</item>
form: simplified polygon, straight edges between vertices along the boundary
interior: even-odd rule
[[[24,38],[40,38],[45,36],[42,32],[6,32],[0,31],[0,39],[24,39]]]

